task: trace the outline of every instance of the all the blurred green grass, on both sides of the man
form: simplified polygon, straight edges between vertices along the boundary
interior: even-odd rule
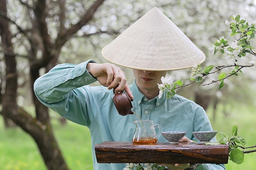
[[[229,115],[223,115],[223,108],[217,110],[213,121],[212,110],[207,113],[213,129],[231,135],[234,125],[238,126],[238,135],[247,141],[247,146],[256,144],[255,108],[254,106],[235,104],[229,106]],[[56,114],[54,115],[56,117]],[[92,170],[92,153],[90,131],[87,127],[68,121],[67,126],[61,126],[56,119],[52,120],[54,134],[63,152],[70,170]],[[220,135],[217,134],[217,139]],[[245,154],[244,163],[237,165],[229,160],[227,170],[255,169],[256,152]],[[0,169],[1,170],[46,170],[33,139],[19,128],[4,129],[0,117]]]

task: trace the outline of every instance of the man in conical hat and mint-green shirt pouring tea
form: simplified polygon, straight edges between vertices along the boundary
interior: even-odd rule
[[[159,9],[148,11],[106,46],[102,54],[110,62],[132,68],[135,81],[128,86],[119,67],[88,60],[77,65],[59,64],[34,84],[35,94],[45,106],[90,128],[94,170],[122,170],[126,164],[97,163],[94,145],[103,141],[131,141],[135,130],[133,121],[137,117],[118,114],[112,88],[116,87],[116,92],[124,90],[134,99],[132,111],[141,119],[153,120],[163,131],[186,131],[182,141],[197,140],[193,131],[212,130],[201,106],[179,95],[166,99],[164,94],[158,98],[157,83],[161,84],[160,78],[167,71],[189,68],[205,58]],[[88,86],[95,81],[102,86]],[[166,139],[160,136],[158,141]],[[189,163],[166,166],[170,170],[184,170]],[[202,164],[197,169],[225,170],[225,166]]]

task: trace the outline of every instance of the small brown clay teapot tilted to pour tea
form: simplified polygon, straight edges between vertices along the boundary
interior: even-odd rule
[[[124,91],[116,93],[115,88],[113,91],[114,91],[113,101],[119,115],[122,115],[122,116],[126,116],[128,114],[132,115],[134,113],[131,110],[132,109],[131,101],[133,101],[133,98],[130,98],[126,93],[124,93]]]

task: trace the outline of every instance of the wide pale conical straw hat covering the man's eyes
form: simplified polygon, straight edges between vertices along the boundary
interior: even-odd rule
[[[190,68],[204,53],[157,7],[105,46],[106,60],[138,70],[170,71]]]

